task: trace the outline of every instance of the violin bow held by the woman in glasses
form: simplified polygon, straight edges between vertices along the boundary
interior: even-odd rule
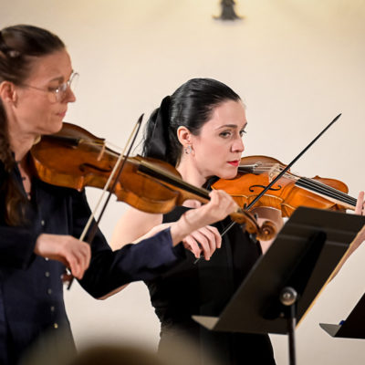
[[[100,223],[101,217],[104,214],[105,209],[107,208],[108,203],[110,202],[111,194],[112,194],[112,192],[114,192],[115,187],[117,186],[117,183],[119,182],[120,174],[121,174],[121,172],[124,169],[125,162],[127,161],[128,157],[130,156],[130,151],[131,151],[131,149],[132,149],[132,147],[134,145],[134,142],[136,141],[137,135],[138,135],[138,133],[139,133],[139,131],[141,129],[141,122],[143,120],[143,116],[144,116],[144,114],[141,115],[141,117],[137,120],[136,124],[134,125],[134,128],[133,128],[133,130],[130,133],[130,137],[129,137],[129,139],[128,139],[128,141],[127,141],[127,143],[126,143],[126,145],[125,145],[125,147],[124,147],[124,149],[122,151],[122,153],[120,153],[120,156],[119,156],[117,162],[115,163],[115,165],[113,167],[113,170],[110,172],[110,177],[109,177],[107,183],[105,184],[102,193],[100,194],[99,201],[96,204],[93,212],[90,214],[88,223],[85,225],[85,228],[84,228],[84,230],[82,231],[82,234],[79,237],[79,240],[80,241],[83,241],[84,240],[85,236],[87,235],[87,233],[89,231],[88,241],[87,242],[88,242],[89,245],[91,245],[91,242],[93,241],[93,239],[94,239],[94,237],[95,237],[95,235],[96,235],[96,233],[98,231],[98,227],[99,227],[99,223]],[[127,153],[125,154],[125,151],[127,150],[127,147],[128,146],[129,146],[129,149],[128,149]],[[124,160],[123,160],[123,157],[124,157]],[[120,162],[121,162],[121,164],[120,164]],[[114,176],[115,176],[115,180],[114,180],[113,184],[111,185],[111,188],[109,190],[108,197],[105,200],[105,202],[104,202],[104,204],[103,204],[103,206],[101,208],[99,217],[98,217],[97,220],[94,220],[96,211],[99,209],[99,205],[101,203],[101,200],[102,200],[104,194],[109,189],[111,180],[113,179]],[[92,226],[89,229],[89,227],[90,227],[91,224],[92,224]],[[69,279],[69,281],[68,281],[68,290],[70,289],[70,287],[72,285],[73,279],[74,279],[74,276],[71,276],[70,279]]]

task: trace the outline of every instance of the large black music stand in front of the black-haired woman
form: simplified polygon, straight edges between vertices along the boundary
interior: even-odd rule
[[[299,207],[221,315],[193,319],[218,331],[288,334],[294,365],[297,322],[364,224],[364,216]]]

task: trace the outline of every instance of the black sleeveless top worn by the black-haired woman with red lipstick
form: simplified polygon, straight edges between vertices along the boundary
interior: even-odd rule
[[[176,221],[186,209],[165,214],[163,222]],[[213,225],[222,233],[230,223],[228,217]],[[260,245],[236,224],[209,261],[194,264],[189,253],[178,266],[147,281],[151,304],[162,323],[160,351],[169,351],[181,334],[199,345],[202,364],[209,364],[210,358],[222,364],[275,364],[267,335],[209,331],[192,319],[192,315],[219,316],[260,255]]]

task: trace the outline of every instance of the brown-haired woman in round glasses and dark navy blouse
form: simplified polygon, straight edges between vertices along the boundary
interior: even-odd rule
[[[0,31],[0,363],[16,364],[44,333],[72,336],[61,276],[69,267],[93,297],[152,279],[184,257],[183,237],[235,210],[224,192],[157,235],[112,252],[98,231],[78,240],[90,210],[85,192],[32,176],[29,151],[62,127],[78,74],[63,42],[36,26]],[[219,209],[217,207],[219,206]],[[211,255],[214,247],[207,247]],[[57,342],[57,341],[56,341]],[[57,346],[57,343],[54,346]],[[49,341],[46,341],[49,345]],[[62,342],[64,344],[64,342]]]

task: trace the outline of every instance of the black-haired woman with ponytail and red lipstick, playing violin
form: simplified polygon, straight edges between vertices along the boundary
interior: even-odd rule
[[[245,106],[234,90],[211,78],[193,78],[162,100],[147,123],[143,155],[170,162],[183,180],[210,189],[218,179],[237,174],[247,120]],[[357,213],[360,214],[363,193]],[[157,224],[174,222],[189,207],[170,214],[146,214],[131,208],[120,218],[111,246],[145,235]],[[365,207],[362,208],[365,213]],[[193,339],[201,349],[202,364],[209,356],[222,364],[275,364],[267,335],[209,331],[193,315],[219,316],[255,261],[268,246],[258,243],[235,225],[214,255],[199,258],[200,248],[216,241],[231,223],[226,218],[184,238],[194,255],[157,278],[146,280],[151,304],[161,321],[159,351],[168,353],[176,342]],[[257,287],[259,290],[259,287]],[[249,300],[249,298],[247,298]]]

